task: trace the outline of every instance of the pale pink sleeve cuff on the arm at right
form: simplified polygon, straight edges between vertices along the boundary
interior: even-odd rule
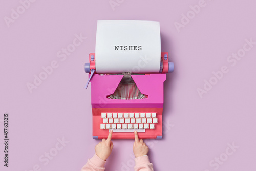
[[[153,171],[153,164],[147,155],[135,158],[135,171]]]

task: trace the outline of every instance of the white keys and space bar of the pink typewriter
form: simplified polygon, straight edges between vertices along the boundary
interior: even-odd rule
[[[113,132],[145,132],[145,129],[155,129],[157,113],[101,113],[101,129],[112,129]]]

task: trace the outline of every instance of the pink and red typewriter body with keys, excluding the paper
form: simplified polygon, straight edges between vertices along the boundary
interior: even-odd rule
[[[133,67],[104,73],[97,70],[97,52],[89,54],[85,71],[89,73],[86,88],[91,82],[93,139],[108,137],[110,130],[112,139],[133,139],[135,130],[139,138],[162,139],[163,83],[174,64],[169,62],[168,53],[155,58],[160,61],[158,72],[138,72]],[[143,60],[138,66],[145,65]]]

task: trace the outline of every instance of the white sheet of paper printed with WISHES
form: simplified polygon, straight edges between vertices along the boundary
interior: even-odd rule
[[[95,53],[97,73],[158,73],[159,22],[100,20]]]

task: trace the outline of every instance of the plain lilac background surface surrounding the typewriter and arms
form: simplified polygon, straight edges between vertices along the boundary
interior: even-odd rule
[[[205,0],[180,32],[174,23],[181,23],[182,14],[193,15],[189,6],[198,0],[118,2],[113,10],[109,0],[37,0],[25,11],[20,8],[23,13],[8,27],[4,18],[21,4],[1,1],[1,170],[28,171],[36,165],[80,170],[93,156],[99,140],[92,139],[91,91],[83,88],[88,79],[83,67],[95,52],[97,20],[160,22],[162,52],[169,52],[175,72],[164,83],[164,138],[146,140],[154,170],[255,170],[256,45],[236,65],[227,61],[245,39],[256,41],[255,1]],[[57,52],[80,33],[87,39],[61,61]],[[58,67],[30,93],[26,84],[54,60]],[[222,66],[229,72],[200,98],[197,88]],[[9,113],[9,168],[3,166],[4,113]],[[56,151],[62,137],[69,143]],[[226,155],[233,142],[238,149]],[[113,143],[106,170],[133,170],[133,140]],[[47,164],[39,161],[49,152],[57,154]]]

